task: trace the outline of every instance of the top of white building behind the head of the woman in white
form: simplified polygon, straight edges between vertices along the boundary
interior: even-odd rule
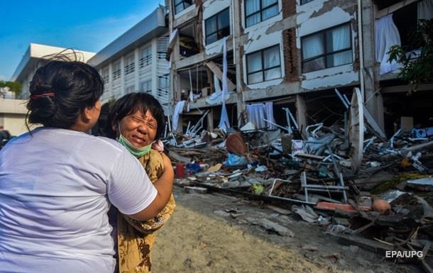
[[[12,75],[12,82],[21,82],[23,90],[21,96],[23,99],[28,99],[29,87],[33,74],[35,74],[38,65],[43,62],[43,58],[48,55],[55,55],[57,53],[67,50],[66,48],[58,48],[50,45],[39,45],[36,43],[31,43],[28,46],[26,53],[23,55],[21,62],[16,68]],[[75,50],[77,59],[82,62],[87,62],[89,58],[95,55],[94,52],[87,52],[82,50]]]

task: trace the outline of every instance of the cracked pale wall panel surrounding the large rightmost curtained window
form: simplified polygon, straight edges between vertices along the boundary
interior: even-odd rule
[[[299,4],[299,2],[298,2]],[[352,60],[348,65],[302,73],[301,87],[307,90],[326,89],[356,84],[359,81],[356,67],[357,24],[356,1],[315,0],[297,6],[297,50],[301,52],[301,38],[342,23],[351,25]]]

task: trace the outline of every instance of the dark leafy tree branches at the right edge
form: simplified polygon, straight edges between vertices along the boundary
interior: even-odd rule
[[[409,92],[417,91],[420,84],[433,82],[433,19],[420,20],[409,36],[409,48],[393,45],[388,62],[402,65],[398,77],[412,86]],[[416,50],[414,50],[416,49]],[[408,51],[410,50],[410,51]]]

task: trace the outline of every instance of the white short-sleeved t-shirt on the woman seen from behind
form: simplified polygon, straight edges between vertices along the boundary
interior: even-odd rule
[[[0,150],[0,271],[114,271],[110,202],[138,213],[157,191],[114,140],[38,128]]]

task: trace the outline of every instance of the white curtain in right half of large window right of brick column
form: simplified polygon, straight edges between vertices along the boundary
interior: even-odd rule
[[[344,48],[350,48],[351,46],[351,35],[350,27],[348,25],[341,26],[339,28],[334,28],[331,32],[331,48],[328,48],[328,52],[334,52],[337,50],[342,50]],[[352,52],[340,52],[332,55],[333,64],[330,66],[336,67],[337,65],[345,65],[352,62]]]

